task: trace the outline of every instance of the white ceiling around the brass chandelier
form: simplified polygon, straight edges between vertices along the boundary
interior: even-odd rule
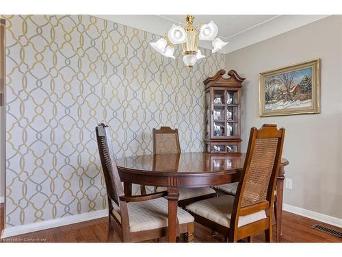
[[[108,21],[163,36],[172,24],[185,23],[184,15],[95,15]],[[292,29],[324,19],[328,15],[194,15],[194,24],[211,20],[218,25],[218,36],[229,41],[220,53],[231,53]],[[200,40],[200,47],[213,49],[210,41]]]

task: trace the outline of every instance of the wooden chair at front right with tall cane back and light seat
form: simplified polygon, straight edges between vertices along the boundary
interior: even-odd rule
[[[237,242],[265,232],[272,242],[274,188],[281,162],[285,129],[264,124],[252,127],[236,196],[223,195],[186,206],[195,221]]]

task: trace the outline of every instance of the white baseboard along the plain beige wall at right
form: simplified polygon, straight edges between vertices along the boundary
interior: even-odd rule
[[[306,210],[296,206],[291,206],[289,204],[282,204],[282,210],[342,228],[342,219],[336,217],[324,215],[319,212],[313,212],[312,210]]]

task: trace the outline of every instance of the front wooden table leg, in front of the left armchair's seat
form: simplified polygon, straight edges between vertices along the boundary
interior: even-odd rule
[[[168,188],[168,242],[175,243],[177,236],[178,188]]]

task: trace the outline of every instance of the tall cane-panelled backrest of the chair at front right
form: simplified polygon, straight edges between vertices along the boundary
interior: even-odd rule
[[[273,124],[250,130],[233,215],[244,216],[272,207],[284,136],[285,129],[277,130]]]

